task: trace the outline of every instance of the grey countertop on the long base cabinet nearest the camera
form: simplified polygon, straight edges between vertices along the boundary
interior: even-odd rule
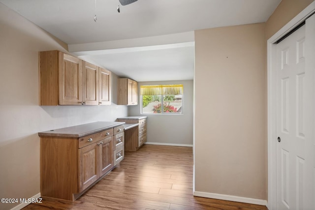
[[[76,125],[66,128],[60,128],[50,131],[38,133],[38,136],[54,136],[54,137],[83,137],[86,135],[94,134],[99,131],[114,128],[125,124],[125,122],[93,122],[82,125]]]

